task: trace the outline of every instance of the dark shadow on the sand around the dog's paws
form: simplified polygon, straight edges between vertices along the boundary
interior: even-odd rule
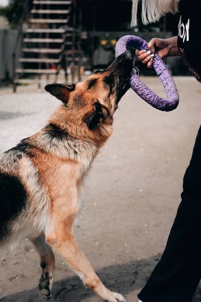
[[[149,275],[160,259],[160,254],[148,260],[139,260],[125,264],[115,264],[96,271],[103,283],[112,291],[123,295],[140,289],[146,283]],[[53,286],[52,301],[81,302],[94,296],[91,290],[86,290],[77,276],[56,281]],[[193,302],[200,301],[201,286],[197,288]],[[98,298],[97,298],[98,299]],[[4,296],[5,302],[39,302],[43,299],[39,296],[37,288],[21,291]]]

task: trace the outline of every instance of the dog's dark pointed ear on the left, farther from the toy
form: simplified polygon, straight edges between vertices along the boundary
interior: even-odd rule
[[[64,104],[67,104],[69,93],[75,90],[75,85],[50,84],[45,86],[45,90]]]

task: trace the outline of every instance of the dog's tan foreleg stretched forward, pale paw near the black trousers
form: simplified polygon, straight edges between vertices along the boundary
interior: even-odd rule
[[[86,288],[91,288],[96,294],[109,302],[126,302],[125,298],[107,289],[94,272],[70,231],[59,225],[53,234],[46,236],[46,241],[54,247],[65,261],[72,267]]]

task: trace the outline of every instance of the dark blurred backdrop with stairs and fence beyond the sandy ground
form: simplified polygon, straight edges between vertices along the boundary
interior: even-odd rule
[[[172,15],[131,29],[131,10],[130,0],[0,0],[0,83],[13,83],[14,91],[33,80],[40,87],[44,75],[48,81],[52,74],[64,74],[65,82],[71,74],[68,82],[74,82],[76,75],[81,80],[106,68],[124,35],[149,41],[177,34],[178,17]],[[139,64],[141,75],[155,74]],[[166,64],[173,75],[190,75],[179,57]]]

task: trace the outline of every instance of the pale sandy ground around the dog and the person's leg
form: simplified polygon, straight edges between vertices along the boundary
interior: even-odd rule
[[[144,78],[164,95],[157,78]],[[180,202],[182,177],[200,125],[201,86],[175,78],[180,105],[164,113],[128,91],[115,114],[114,134],[85,184],[85,201],[74,227],[77,242],[99,277],[128,302],[137,302],[166,244]],[[43,125],[59,104],[34,87],[17,94],[0,90],[0,152]],[[39,302],[39,257],[32,244],[0,255],[0,296],[5,302]],[[101,301],[86,290],[59,255],[52,300]],[[198,289],[195,301],[200,300]]]

